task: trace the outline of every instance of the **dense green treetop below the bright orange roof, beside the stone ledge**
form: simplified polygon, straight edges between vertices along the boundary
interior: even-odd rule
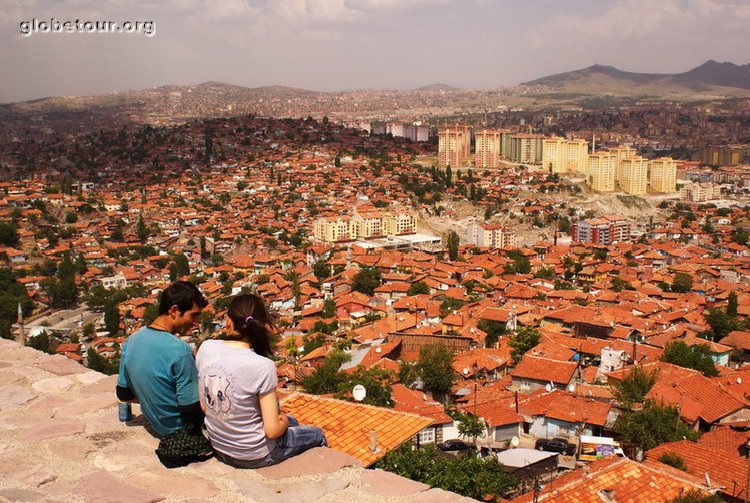
[[[412,449],[404,444],[375,466],[431,487],[488,502],[501,501],[518,485],[495,457],[441,456],[432,445]]]

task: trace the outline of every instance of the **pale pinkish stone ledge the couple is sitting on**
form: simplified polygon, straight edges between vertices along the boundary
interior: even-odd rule
[[[168,470],[155,438],[117,420],[114,383],[0,339],[0,503],[474,501],[326,448],[258,470],[215,459]]]

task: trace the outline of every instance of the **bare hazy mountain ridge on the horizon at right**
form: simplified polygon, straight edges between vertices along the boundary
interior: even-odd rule
[[[713,60],[684,73],[636,73],[612,66],[593,65],[524,82],[555,91],[612,94],[736,94],[750,91],[750,64],[735,65]]]

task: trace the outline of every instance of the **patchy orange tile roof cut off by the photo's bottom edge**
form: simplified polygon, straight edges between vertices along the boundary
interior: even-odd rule
[[[663,463],[637,463],[628,458],[609,457],[594,461],[546,484],[538,503],[602,503],[600,491],[614,491],[617,503],[656,503],[670,501],[684,492],[708,494],[702,477],[695,477]],[[531,503],[529,492],[511,503]]]

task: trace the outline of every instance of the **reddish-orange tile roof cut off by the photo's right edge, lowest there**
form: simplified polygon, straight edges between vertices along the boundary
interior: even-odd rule
[[[658,460],[664,454],[677,454],[685,462],[686,471],[696,477],[710,477],[722,486],[721,492],[733,498],[745,497],[748,461],[739,454],[696,444],[690,440],[671,442],[646,453],[648,459]]]

